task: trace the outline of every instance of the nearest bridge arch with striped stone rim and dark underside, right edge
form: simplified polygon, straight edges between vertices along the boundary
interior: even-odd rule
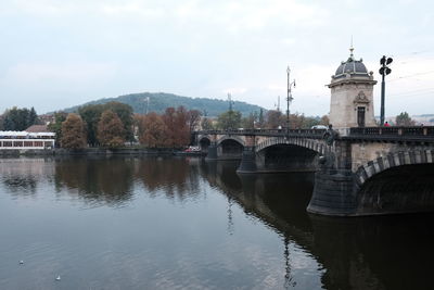
[[[433,150],[392,152],[360,166],[356,212],[390,214],[434,210]]]

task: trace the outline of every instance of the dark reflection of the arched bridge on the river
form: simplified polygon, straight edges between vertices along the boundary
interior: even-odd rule
[[[411,265],[431,265],[434,259],[430,234],[433,215],[350,219],[308,215],[304,209],[314,186],[312,174],[237,176],[233,162],[204,162],[201,173],[247,214],[281,232],[283,243],[311,254],[324,269],[321,282],[326,289],[427,287],[431,267]],[[289,261],[286,276],[292,279],[294,261],[291,252],[284,254]]]

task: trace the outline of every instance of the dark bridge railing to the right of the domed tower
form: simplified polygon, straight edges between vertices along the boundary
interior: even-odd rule
[[[384,136],[384,137],[421,137],[434,138],[434,126],[394,126],[394,127],[358,127],[349,128],[349,137]]]

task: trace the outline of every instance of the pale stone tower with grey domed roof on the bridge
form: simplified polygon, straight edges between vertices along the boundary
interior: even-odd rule
[[[347,135],[350,127],[376,126],[373,112],[373,73],[368,73],[362,60],[356,61],[353,47],[346,62],[342,62],[332,80],[330,124],[341,135]]]

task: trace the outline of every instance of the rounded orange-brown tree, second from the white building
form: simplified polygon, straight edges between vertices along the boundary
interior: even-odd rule
[[[125,143],[125,128],[116,113],[106,110],[98,123],[98,140],[104,147],[116,148]]]

